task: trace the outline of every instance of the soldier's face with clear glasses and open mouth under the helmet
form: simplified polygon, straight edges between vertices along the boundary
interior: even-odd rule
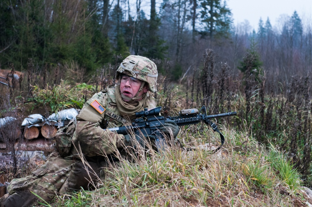
[[[135,79],[133,77],[129,77],[127,75],[123,75],[120,79],[120,92],[124,96],[129,98],[134,98],[134,96],[138,93],[141,87],[142,81]],[[138,96],[148,92],[148,88],[144,85],[142,91],[138,94]],[[141,98],[142,99],[142,98]],[[141,100],[141,99],[138,99]],[[129,102],[129,100],[123,99],[125,102]]]

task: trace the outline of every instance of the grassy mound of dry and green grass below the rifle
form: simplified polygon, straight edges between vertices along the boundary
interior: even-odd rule
[[[120,158],[117,166],[106,169],[106,178],[95,191],[59,195],[51,206],[296,206],[304,202],[300,176],[280,152],[266,151],[252,137],[246,142],[247,132],[224,133],[227,142],[222,151],[212,153],[201,144],[208,139],[217,143],[216,133],[207,128],[197,133],[183,130],[180,139],[196,150],[167,148],[135,162]]]

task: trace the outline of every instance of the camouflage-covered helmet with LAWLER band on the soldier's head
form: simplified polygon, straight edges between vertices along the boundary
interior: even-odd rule
[[[115,79],[119,80],[120,74],[145,81],[151,92],[154,93],[157,91],[157,66],[147,57],[129,55],[118,67]]]

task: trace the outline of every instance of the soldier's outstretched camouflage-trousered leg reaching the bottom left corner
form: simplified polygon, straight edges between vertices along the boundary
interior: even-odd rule
[[[25,178],[13,179],[7,187],[8,193],[0,199],[0,207],[26,207],[50,201],[65,183],[73,160],[65,160],[57,152],[51,153],[46,163]],[[40,196],[38,198],[33,193]]]

